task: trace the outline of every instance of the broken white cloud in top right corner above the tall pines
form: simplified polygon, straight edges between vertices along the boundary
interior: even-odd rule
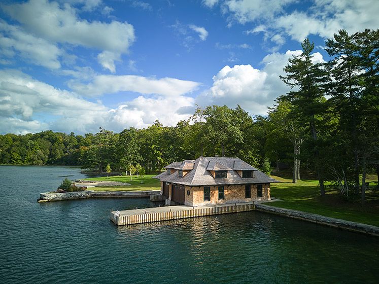
[[[229,24],[257,24],[247,34],[263,32],[264,40],[271,41],[278,49],[285,42],[285,35],[302,42],[310,34],[326,39],[340,29],[349,33],[366,28],[379,28],[377,0],[314,0],[307,10],[301,8],[285,11],[296,0],[225,0],[222,12],[229,14]]]

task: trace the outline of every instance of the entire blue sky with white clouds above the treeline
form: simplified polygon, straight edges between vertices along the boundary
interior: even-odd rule
[[[265,115],[301,42],[379,28],[378,0],[0,0],[0,134]]]

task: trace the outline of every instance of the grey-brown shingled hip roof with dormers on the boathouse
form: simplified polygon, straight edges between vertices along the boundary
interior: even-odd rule
[[[162,182],[187,186],[264,184],[278,182],[239,158],[199,157],[196,160],[186,160],[177,163],[176,167],[172,166],[174,163],[171,163],[168,165],[170,167],[166,166],[165,168],[177,168],[184,166],[186,163],[193,164],[193,169],[183,177],[179,177],[177,172],[168,174],[164,171],[154,176],[154,178],[159,179]],[[178,166],[178,164],[180,164],[180,166]],[[227,170],[227,178],[215,179],[210,170]],[[254,170],[254,177],[242,178],[236,170]]]

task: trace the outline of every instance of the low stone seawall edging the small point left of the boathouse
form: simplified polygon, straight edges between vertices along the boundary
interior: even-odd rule
[[[63,193],[50,193],[43,192],[40,194],[39,202],[45,201],[61,201],[61,200],[75,200],[84,198],[146,198],[151,194],[159,194],[159,190],[146,190],[146,191],[77,191],[77,192],[63,192]]]

